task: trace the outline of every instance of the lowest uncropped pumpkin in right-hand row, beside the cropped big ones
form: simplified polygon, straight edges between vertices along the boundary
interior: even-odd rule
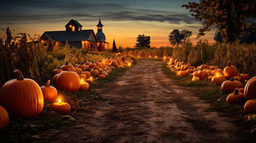
[[[245,98],[243,97],[243,93],[239,92],[239,89],[236,88],[235,92],[233,92],[232,94],[230,94],[227,97],[226,102],[228,104],[238,104],[238,103],[242,102],[243,100],[245,100]]]

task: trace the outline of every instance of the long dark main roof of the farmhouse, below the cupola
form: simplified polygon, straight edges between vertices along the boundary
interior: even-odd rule
[[[86,41],[90,38],[91,33],[97,41],[93,30],[80,30],[79,32],[50,31],[44,32],[41,38],[46,35],[52,41]]]

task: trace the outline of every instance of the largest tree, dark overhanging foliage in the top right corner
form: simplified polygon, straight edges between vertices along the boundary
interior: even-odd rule
[[[200,0],[182,5],[190,9],[193,17],[203,21],[203,27],[199,29],[198,38],[204,36],[204,32],[210,31],[210,27],[217,26],[218,31],[223,33],[224,42],[233,42],[243,29],[248,27],[248,17],[256,16],[255,0],[227,1],[227,0]]]

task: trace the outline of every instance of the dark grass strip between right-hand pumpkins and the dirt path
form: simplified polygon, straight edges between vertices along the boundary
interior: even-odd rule
[[[254,142],[256,139],[255,133],[248,133],[255,125],[255,121],[247,121],[245,119],[245,113],[243,112],[243,105],[245,102],[240,104],[227,104],[226,98],[230,93],[221,92],[220,85],[213,85],[209,80],[199,80],[192,82],[191,76],[176,76],[175,72],[166,67],[166,63],[162,63],[162,71],[165,75],[180,86],[192,87],[195,91],[201,91],[202,94],[197,95],[202,100],[206,100],[211,104],[211,107],[206,111],[217,111],[221,116],[231,117],[232,122],[236,123],[240,127],[239,133],[241,134],[245,142]],[[245,86],[245,83],[243,83]]]

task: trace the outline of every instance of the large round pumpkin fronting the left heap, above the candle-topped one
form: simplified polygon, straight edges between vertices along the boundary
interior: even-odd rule
[[[60,90],[78,91],[80,88],[80,78],[74,71],[63,71],[58,74],[56,86]]]

